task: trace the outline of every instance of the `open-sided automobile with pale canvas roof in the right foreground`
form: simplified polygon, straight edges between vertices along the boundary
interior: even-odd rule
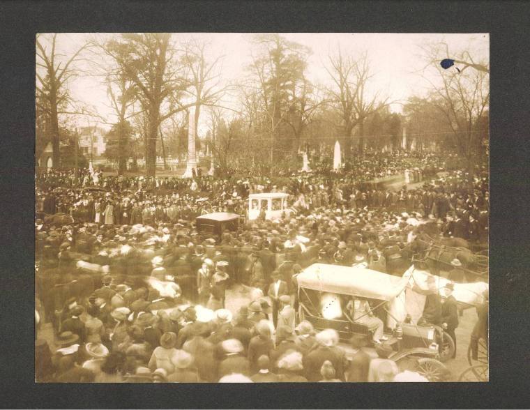
[[[386,343],[394,351],[392,360],[416,357],[429,374],[427,378],[440,378],[443,362],[453,356],[455,345],[441,326],[417,324],[425,296],[415,289],[427,289],[428,275],[414,266],[398,277],[361,266],[312,264],[296,276],[298,322],[308,320],[317,331],[333,328],[343,342],[355,334],[364,335],[373,346],[371,331],[354,321],[352,311],[352,301],[368,301],[372,313],[383,321]],[[444,278],[435,280],[439,288],[448,282]],[[469,284],[460,284],[465,285]],[[455,287],[455,294],[469,305],[479,303],[471,299],[475,297],[472,291]]]

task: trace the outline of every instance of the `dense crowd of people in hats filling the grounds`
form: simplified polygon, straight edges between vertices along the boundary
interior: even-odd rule
[[[427,159],[446,171],[444,158]],[[487,174],[470,183],[462,171],[418,169],[409,174],[418,186],[396,191],[361,174],[38,174],[37,380],[426,381],[414,360],[400,372],[384,343],[372,358],[354,337],[347,360],[335,331],[298,323],[296,275],[316,261],[386,271],[418,226],[487,243]],[[292,208],[247,221],[253,192],[289,193]],[[195,218],[216,211],[245,222],[219,238],[197,231]],[[227,289],[245,303],[234,307]],[[48,323],[53,341],[41,337]]]

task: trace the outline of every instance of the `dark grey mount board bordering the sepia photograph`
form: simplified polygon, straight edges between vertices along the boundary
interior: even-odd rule
[[[10,408],[528,407],[529,7],[473,1],[60,1],[0,4],[4,171],[3,377]],[[486,384],[35,384],[33,255],[35,34],[38,32],[490,33],[490,382]],[[515,149],[517,147],[517,149]],[[6,163],[7,162],[7,163]]]

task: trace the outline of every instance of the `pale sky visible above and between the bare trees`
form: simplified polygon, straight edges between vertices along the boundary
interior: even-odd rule
[[[220,69],[221,83],[237,82],[247,75],[246,67],[252,61],[252,54],[257,50],[252,45],[255,33],[174,33],[173,40],[179,42],[197,38],[209,43],[209,56],[222,58]],[[469,50],[475,61],[489,63],[490,39],[487,33],[281,33],[287,40],[295,41],[310,47],[312,54],[308,59],[307,76],[314,84],[331,86],[324,66],[328,65],[328,56],[337,52],[338,47],[343,55],[356,57],[368,53],[370,70],[373,73],[368,87],[369,94],[375,91],[379,96],[388,98],[392,112],[401,112],[402,102],[410,96],[421,96],[427,90],[427,79],[436,80],[435,70],[423,70],[426,62],[422,58],[421,46],[429,43],[445,42],[450,52]],[[68,58],[77,47],[91,38],[108,38],[112,33],[59,33],[56,48],[63,58]],[[47,40],[45,34],[43,41]],[[101,116],[112,122],[112,110],[109,108],[106,86],[93,76],[89,60],[93,56],[77,63],[79,75],[68,87],[75,100],[93,106]],[[231,98],[225,105],[234,105]],[[87,117],[75,120],[77,126],[94,125],[96,120]],[[199,135],[207,128],[206,116],[199,120]],[[104,126],[103,124],[99,124]],[[105,126],[107,128],[107,126]]]

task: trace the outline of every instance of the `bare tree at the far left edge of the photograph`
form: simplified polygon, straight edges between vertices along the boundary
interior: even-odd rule
[[[82,45],[70,56],[70,59],[61,61],[61,56],[56,52],[56,38],[54,33],[51,45],[45,45],[43,36],[36,36],[36,104],[38,110],[45,113],[49,121],[47,126],[53,149],[53,167],[59,167],[61,158],[59,153],[59,114],[88,114],[84,111],[68,109],[73,106],[66,84],[77,74],[73,63],[79,54],[88,47]],[[51,49],[51,50],[50,50]]]

